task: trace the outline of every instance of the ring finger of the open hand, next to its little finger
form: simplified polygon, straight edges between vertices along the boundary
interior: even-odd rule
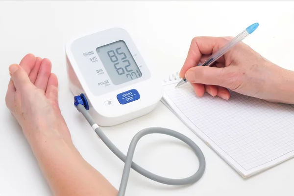
[[[44,58],[40,65],[40,69],[35,81],[35,86],[44,90],[45,92],[50,74],[51,74],[51,62],[48,58]]]

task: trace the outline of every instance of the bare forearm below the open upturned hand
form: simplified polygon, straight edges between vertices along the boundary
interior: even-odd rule
[[[117,190],[82,158],[72,142],[41,133],[30,137],[32,150],[55,196],[117,195]]]

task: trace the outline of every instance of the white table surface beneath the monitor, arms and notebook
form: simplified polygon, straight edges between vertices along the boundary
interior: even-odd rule
[[[244,42],[274,63],[294,70],[294,1],[0,1],[0,196],[52,195],[20,127],[5,106],[10,64],[19,63],[27,53],[52,61],[59,79],[60,108],[75,146],[119,188],[123,162],[98,140],[73,107],[66,41],[87,31],[125,28],[154,74],[164,77],[181,68],[194,36],[234,36],[255,22],[259,28]],[[293,195],[293,159],[244,179],[162,103],[146,116],[103,130],[126,153],[132,137],[150,126],[171,128],[194,140],[205,155],[206,171],[196,184],[187,187],[162,185],[131,171],[128,196]],[[134,161],[173,178],[189,176],[198,167],[189,148],[165,136],[142,139]]]

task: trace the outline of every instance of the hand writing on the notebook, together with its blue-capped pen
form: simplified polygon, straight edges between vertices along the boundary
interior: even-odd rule
[[[228,100],[230,89],[260,99],[279,100],[275,95],[282,90],[280,84],[289,78],[288,72],[282,77],[284,69],[241,42],[257,27],[255,23],[233,39],[195,37],[180,71],[183,80],[178,88],[190,82],[199,97],[206,91]]]

